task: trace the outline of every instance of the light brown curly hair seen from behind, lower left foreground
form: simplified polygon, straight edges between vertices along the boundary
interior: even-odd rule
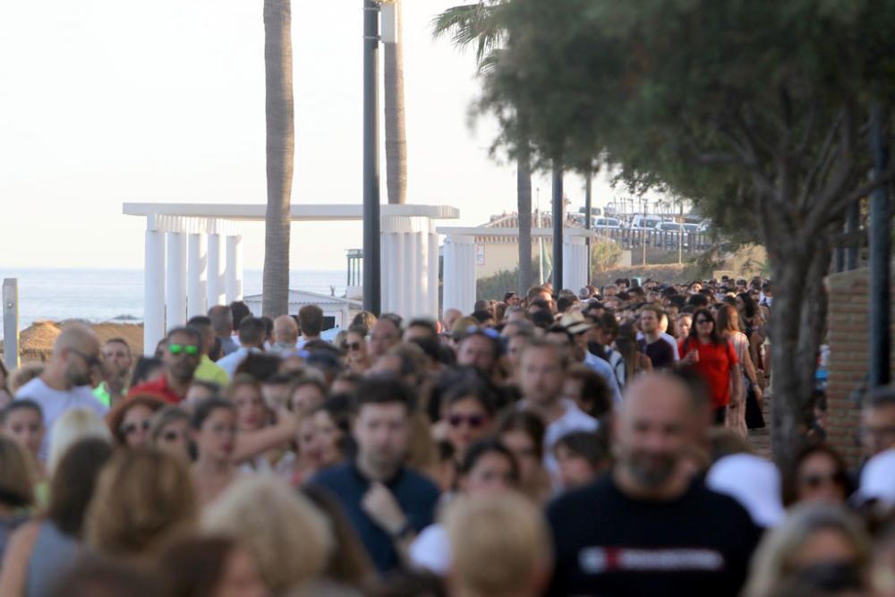
[[[192,477],[177,456],[119,449],[90,500],[87,542],[100,553],[153,555],[195,528],[199,507]]]

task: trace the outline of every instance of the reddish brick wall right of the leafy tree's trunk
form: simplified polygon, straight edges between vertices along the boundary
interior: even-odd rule
[[[830,293],[827,431],[830,444],[846,457],[849,465],[857,465],[861,458],[857,443],[860,408],[855,397],[866,388],[869,366],[868,271],[862,268],[832,274],[827,277],[827,289]],[[895,305],[895,300],[891,305]],[[895,322],[895,308],[891,312]],[[892,333],[895,337],[895,326]],[[895,351],[891,353],[891,362],[895,371]]]

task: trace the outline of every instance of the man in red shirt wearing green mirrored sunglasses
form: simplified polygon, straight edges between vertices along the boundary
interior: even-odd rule
[[[196,328],[174,328],[168,332],[162,361],[165,372],[158,380],[131,388],[127,397],[151,394],[167,403],[183,402],[202,354],[202,337]]]

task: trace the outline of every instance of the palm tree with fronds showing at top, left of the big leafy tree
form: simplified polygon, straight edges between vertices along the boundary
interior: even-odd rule
[[[506,36],[501,21],[501,9],[509,0],[479,0],[448,8],[432,21],[435,38],[450,36],[454,46],[474,47],[479,72],[494,67],[499,48]],[[524,118],[520,117],[520,123]],[[518,131],[525,140],[524,124]],[[519,293],[524,295],[532,283],[532,157],[527,142],[519,142],[516,152],[516,202],[519,212]]]

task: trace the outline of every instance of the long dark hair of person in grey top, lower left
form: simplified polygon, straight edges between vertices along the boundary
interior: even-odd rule
[[[65,450],[50,484],[47,518],[61,533],[81,538],[87,506],[113,448],[105,439],[80,439]]]

